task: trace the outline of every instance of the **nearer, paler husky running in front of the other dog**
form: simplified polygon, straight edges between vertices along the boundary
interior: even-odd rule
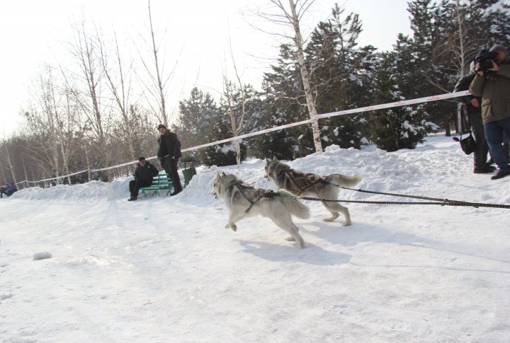
[[[295,226],[292,216],[300,219],[310,218],[310,209],[285,190],[273,192],[244,185],[235,175],[217,174],[210,194],[221,198],[227,204],[229,220],[225,228],[237,231],[236,221],[249,216],[268,217],[280,228],[290,233],[287,240],[295,240],[300,248],[305,242]]]

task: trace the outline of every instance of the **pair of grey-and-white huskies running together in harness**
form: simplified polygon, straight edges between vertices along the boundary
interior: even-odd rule
[[[278,187],[276,192],[261,190],[245,185],[235,175],[217,174],[210,194],[223,199],[229,211],[225,228],[237,231],[236,222],[249,216],[268,217],[278,227],[290,233],[287,240],[295,240],[299,248],[305,248],[305,242],[299,234],[299,228],[292,216],[300,219],[310,218],[310,209],[297,197],[316,197],[335,200],[339,187],[352,187],[361,181],[361,176],[331,174],[324,178],[317,174],[305,174],[291,169],[289,165],[273,158],[266,160],[266,177]],[[345,221],[342,226],[351,225],[351,216],[347,207],[338,202],[322,202],[331,216],[324,221],[334,221],[340,213]]]

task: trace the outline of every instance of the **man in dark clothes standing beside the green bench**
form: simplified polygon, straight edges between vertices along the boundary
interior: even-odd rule
[[[181,178],[179,178],[179,173],[177,173],[177,161],[182,157],[181,144],[179,139],[177,139],[177,135],[166,129],[164,124],[159,124],[158,131],[160,136],[158,139],[159,149],[157,156],[174,185],[174,192],[170,195],[176,195],[182,192]]]

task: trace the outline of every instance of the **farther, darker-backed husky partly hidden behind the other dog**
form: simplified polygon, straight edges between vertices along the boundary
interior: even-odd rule
[[[346,176],[331,174],[324,178],[317,174],[300,173],[290,168],[275,157],[273,161],[266,159],[266,173],[268,178],[273,179],[276,187],[288,190],[292,194],[304,197],[317,197],[319,199],[338,199],[339,187],[351,187],[358,185],[361,176]],[[331,217],[324,218],[324,221],[334,221],[339,217],[339,212],[344,214],[346,221],[342,226],[351,225],[351,216],[348,208],[341,206],[338,202],[322,202],[324,207],[331,212]]]

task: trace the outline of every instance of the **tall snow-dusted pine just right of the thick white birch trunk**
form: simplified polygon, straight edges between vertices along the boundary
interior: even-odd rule
[[[375,71],[375,47],[357,47],[361,31],[358,15],[351,13],[344,17],[344,9],[336,5],[331,19],[319,23],[312,33],[307,59],[314,66],[320,113],[368,105],[372,98],[368,85]],[[361,147],[363,136],[368,135],[365,122],[363,114],[322,120],[324,146]]]

